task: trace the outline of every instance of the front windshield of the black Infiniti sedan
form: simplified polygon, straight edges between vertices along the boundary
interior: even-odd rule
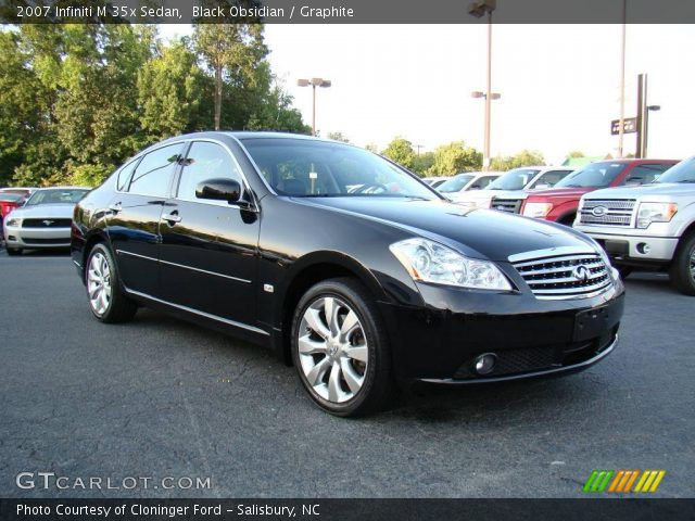
[[[280,195],[440,199],[402,168],[356,147],[287,138],[245,139],[243,145]]]

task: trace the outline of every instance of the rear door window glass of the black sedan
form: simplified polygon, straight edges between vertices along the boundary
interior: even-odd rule
[[[169,144],[142,157],[130,181],[130,192],[165,198],[181,153],[181,143]]]

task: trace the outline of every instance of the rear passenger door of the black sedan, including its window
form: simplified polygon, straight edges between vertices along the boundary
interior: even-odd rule
[[[124,285],[160,297],[160,217],[184,152],[184,143],[155,149],[126,165],[109,209],[109,237]]]

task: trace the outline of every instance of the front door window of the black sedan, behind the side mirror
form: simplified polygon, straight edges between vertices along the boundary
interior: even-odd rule
[[[226,178],[239,181],[241,174],[229,152],[216,143],[195,141],[186,157],[181,180],[178,183],[178,199],[195,201],[195,187],[207,179]],[[200,201],[200,200],[198,200]]]

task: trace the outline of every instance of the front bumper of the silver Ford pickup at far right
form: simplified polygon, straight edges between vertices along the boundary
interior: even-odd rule
[[[639,264],[669,263],[675,254],[678,238],[655,236],[628,236],[618,233],[605,233],[593,230],[591,227],[576,227],[601,244],[608,255],[618,260],[628,260]],[[645,245],[647,246],[645,249]]]

